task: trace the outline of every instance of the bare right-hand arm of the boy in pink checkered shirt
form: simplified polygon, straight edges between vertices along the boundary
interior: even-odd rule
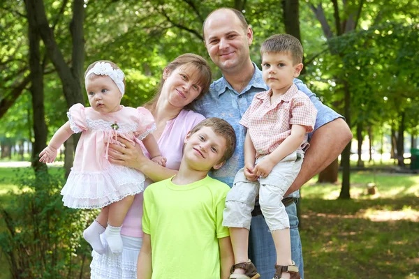
[[[253,169],[253,173],[256,174],[256,176],[263,176],[265,178],[270,174],[274,165],[277,165],[282,159],[297,150],[304,140],[305,133],[305,126],[296,124],[291,126],[291,135],[289,135],[284,142],[279,144],[277,149],[261,160],[260,163],[256,165],[255,169]]]

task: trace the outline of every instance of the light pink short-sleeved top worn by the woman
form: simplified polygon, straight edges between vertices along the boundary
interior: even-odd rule
[[[164,128],[161,137],[157,140],[162,156],[167,158],[166,167],[179,169],[186,134],[204,119],[205,117],[201,114],[191,110],[182,110],[175,119],[166,123],[166,128]],[[147,151],[144,151],[144,155],[149,157]],[[147,179],[145,186],[149,185],[149,183],[152,183],[152,181]],[[142,193],[135,195],[133,205],[124,219],[121,234],[124,236],[142,237],[141,219]]]

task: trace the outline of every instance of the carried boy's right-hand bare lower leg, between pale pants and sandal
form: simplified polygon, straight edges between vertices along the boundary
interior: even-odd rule
[[[277,264],[288,266],[293,264],[291,259],[291,236],[290,229],[277,229],[272,232],[275,249],[277,250]],[[290,273],[283,272],[281,278],[289,279]]]

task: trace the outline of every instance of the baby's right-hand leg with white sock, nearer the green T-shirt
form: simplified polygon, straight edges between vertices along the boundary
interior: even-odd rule
[[[109,206],[108,227],[105,230],[105,237],[112,253],[122,252],[121,228],[128,209],[133,204],[134,196],[124,197],[119,202]]]

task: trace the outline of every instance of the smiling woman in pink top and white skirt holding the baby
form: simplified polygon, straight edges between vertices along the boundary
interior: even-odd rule
[[[182,159],[186,134],[205,119],[201,114],[190,110],[191,103],[206,93],[210,84],[211,69],[201,56],[183,54],[169,63],[163,71],[159,91],[145,105],[154,116],[156,130],[153,135],[162,156],[167,158],[166,167],[149,160],[145,149],[132,146],[123,139],[118,140],[126,148],[111,146],[115,151],[108,152],[110,163],[138,169],[149,178],[148,184],[175,175]],[[92,252],[91,278],[136,278],[137,259],[142,244],[141,218],[142,193],[135,195],[122,225],[122,254],[112,254],[108,243],[101,237],[105,254]],[[102,214],[96,220],[105,227],[106,221]]]

